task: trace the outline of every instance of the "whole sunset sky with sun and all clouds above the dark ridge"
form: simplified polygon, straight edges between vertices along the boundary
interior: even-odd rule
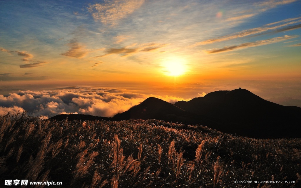
[[[247,89],[301,107],[301,1],[0,1],[0,114]]]

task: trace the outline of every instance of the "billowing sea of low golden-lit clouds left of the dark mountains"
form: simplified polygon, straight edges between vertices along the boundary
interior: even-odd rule
[[[184,100],[172,96],[154,96],[112,88],[68,87],[48,91],[19,91],[0,95],[0,114],[26,110],[33,116],[49,118],[57,114],[82,113],[113,117],[147,97],[158,97],[170,103]]]

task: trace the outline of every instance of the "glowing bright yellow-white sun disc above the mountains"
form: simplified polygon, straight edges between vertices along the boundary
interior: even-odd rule
[[[181,60],[169,60],[163,64],[163,67],[167,76],[181,76],[186,71],[185,64]]]

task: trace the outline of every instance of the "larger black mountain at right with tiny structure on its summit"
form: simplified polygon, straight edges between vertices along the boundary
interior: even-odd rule
[[[196,115],[225,125],[220,131],[249,137],[300,137],[301,108],[282,106],[246,89],[214,91],[204,97],[174,104]]]

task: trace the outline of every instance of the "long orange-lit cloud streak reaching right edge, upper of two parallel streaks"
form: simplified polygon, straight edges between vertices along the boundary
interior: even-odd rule
[[[281,25],[276,25],[276,26],[271,26],[271,25],[275,25],[275,24],[283,23],[283,22],[287,22],[287,23],[284,23]],[[297,25],[293,25],[293,26],[291,26],[291,25],[295,24],[295,23],[300,23],[300,22],[301,22],[301,17],[281,20],[278,22],[266,24],[262,27],[247,29],[247,30],[233,33],[231,35],[225,35],[225,36],[221,36],[221,37],[217,37],[217,38],[213,38],[213,39],[208,39],[208,40],[205,40],[202,42],[197,42],[193,46],[212,44],[215,42],[222,42],[222,41],[227,41],[227,40],[231,40],[231,39],[242,38],[242,37],[246,37],[249,35],[258,36],[258,35],[266,34],[266,32],[268,32],[268,31],[278,33],[278,32],[284,32],[284,31],[288,31],[288,30],[298,29],[298,28],[301,28],[301,24],[297,24]]]

